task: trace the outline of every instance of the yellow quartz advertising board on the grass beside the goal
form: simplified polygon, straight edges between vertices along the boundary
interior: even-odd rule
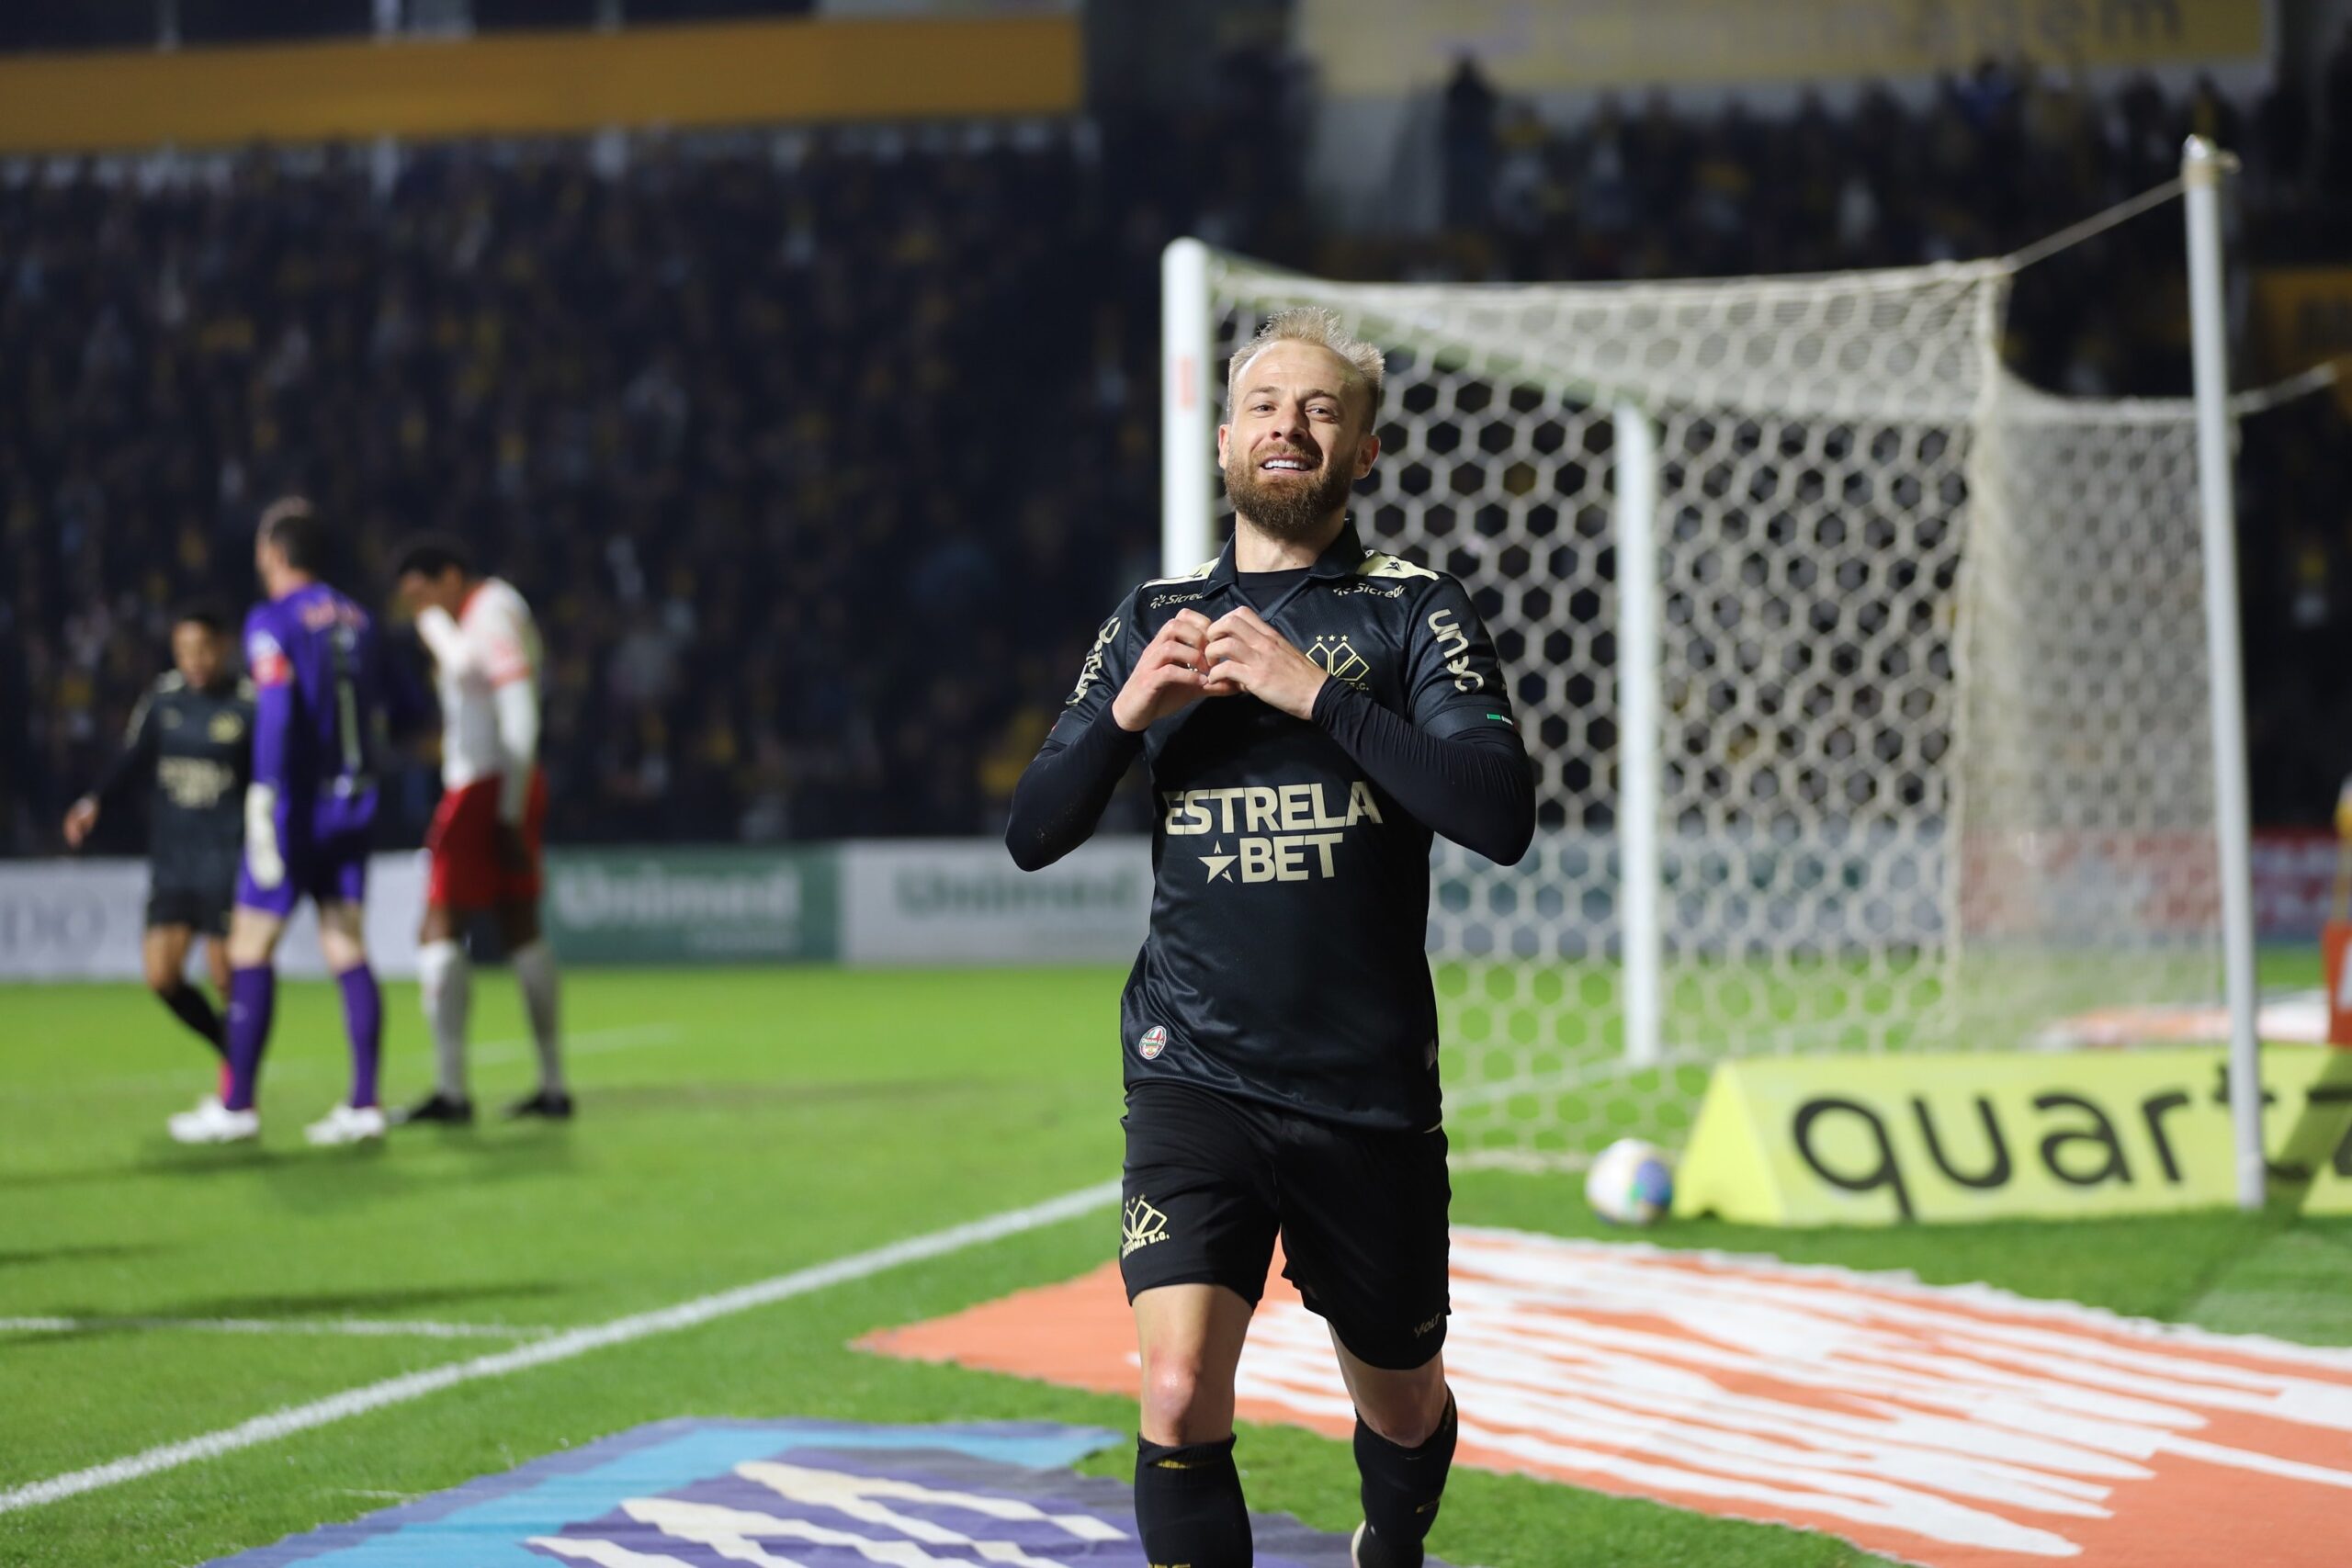
[[[2279,1175],[2352,1194],[2352,1051],[2263,1048]],[[2343,1175],[2338,1175],[2343,1171]],[[2227,1051],[1813,1056],[1724,1063],[1677,1215],[1748,1225],[2079,1218],[2237,1199]]]

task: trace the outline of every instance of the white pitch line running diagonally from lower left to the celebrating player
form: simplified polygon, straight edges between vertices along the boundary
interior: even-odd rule
[[[774,1279],[736,1286],[734,1291],[696,1295],[694,1300],[675,1307],[635,1312],[630,1316],[616,1316],[609,1324],[569,1328],[548,1340],[534,1340],[529,1345],[517,1345],[515,1349],[475,1356],[473,1361],[452,1361],[449,1366],[433,1366],[421,1373],[367,1382],[355,1389],[343,1389],[341,1394],[329,1394],[327,1399],[315,1399],[306,1406],[289,1406],[285,1410],[273,1410],[270,1415],[256,1415],[249,1422],[207,1432],[205,1436],[191,1436],[179,1443],[148,1448],[146,1453],[134,1453],[89,1469],[75,1469],[64,1476],[49,1476],[47,1481],[0,1490],[0,1514],[40,1507],[42,1502],[59,1502],[61,1497],[78,1497],[80,1493],[120,1486],[122,1481],[136,1481],[165,1469],[179,1469],[181,1465],[193,1465],[195,1460],[212,1460],[223,1453],[235,1453],[238,1448],[252,1448],[280,1436],[325,1427],[350,1415],[365,1415],[367,1410],[381,1410],[386,1406],[423,1399],[426,1394],[437,1394],[440,1389],[449,1389],[461,1382],[506,1378],[508,1373],[522,1373],[534,1366],[569,1361],[572,1356],[583,1356],[590,1349],[604,1349],[607,1345],[628,1345],[630,1340],[644,1340],[656,1333],[696,1328],[713,1319],[750,1312],[753,1307],[767,1307],[795,1295],[823,1291],[826,1286],[868,1279],[908,1262],[946,1258],[948,1253],[985,1246],[988,1241],[1016,1237],[1042,1225],[1058,1225],[1082,1213],[1108,1208],[1117,1201],[1120,1182],[1096,1182],[1094,1187],[1080,1187],[1077,1192],[1065,1192],[1058,1199],[1030,1204],[1028,1208],[1009,1208],[1004,1213],[988,1215],[985,1220],[950,1225],[948,1229],[934,1229],[927,1237],[891,1241],[889,1246],[851,1253],[807,1269],[793,1269],[790,1274],[776,1274]]]

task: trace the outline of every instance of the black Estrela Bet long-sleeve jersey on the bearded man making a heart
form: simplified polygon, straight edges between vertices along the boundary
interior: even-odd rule
[[[1251,602],[1258,599],[1258,602]],[[1331,679],[1312,719],[1202,698],[1143,736],[1110,703],[1178,611],[1251,604]],[[1534,776],[1463,585],[1367,550],[1242,578],[1232,545],[1136,588],[1014,795],[1007,844],[1049,865],[1136,752],[1152,783],[1152,924],[1120,999],[1127,1084],[1178,1079],[1385,1128],[1439,1119],[1425,957],[1430,835],[1517,860]]]

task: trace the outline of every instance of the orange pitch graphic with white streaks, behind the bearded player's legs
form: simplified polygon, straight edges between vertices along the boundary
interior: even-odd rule
[[[863,1347],[1136,1385],[1115,1267]],[[2352,1352],[1983,1286],[1456,1229],[1446,1371],[1465,1465],[1931,1568],[2352,1563]],[[1279,1267],[1240,1413],[1352,1429],[1322,1319]]]

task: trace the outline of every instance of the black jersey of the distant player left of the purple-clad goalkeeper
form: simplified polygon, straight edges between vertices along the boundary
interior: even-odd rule
[[[172,670],[139,698],[122,752],[106,764],[92,795],[111,804],[134,783],[151,780],[148,858],[158,884],[205,886],[221,875],[235,877],[252,757],[252,682],[223,677],[198,689]]]

